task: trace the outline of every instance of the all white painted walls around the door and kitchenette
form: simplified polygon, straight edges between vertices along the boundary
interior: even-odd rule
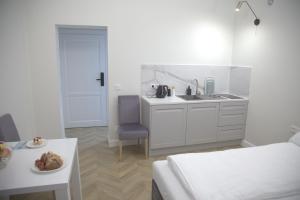
[[[0,115],[13,114],[23,139],[61,137],[55,25],[107,26],[111,140],[116,96],[140,93],[141,64],[228,65],[233,58],[253,66],[247,140],[285,141],[289,126],[300,125],[300,1],[249,2],[262,20],[257,29],[246,7],[232,12],[233,0],[1,0]]]

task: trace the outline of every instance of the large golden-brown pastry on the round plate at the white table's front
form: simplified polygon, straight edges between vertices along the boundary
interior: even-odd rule
[[[40,159],[35,161],[35,166],[39,168],[40,171],[50,171],[54,169],[58,169],[63,165],[63,159],[49,151],[47,153],[43,153]]]

